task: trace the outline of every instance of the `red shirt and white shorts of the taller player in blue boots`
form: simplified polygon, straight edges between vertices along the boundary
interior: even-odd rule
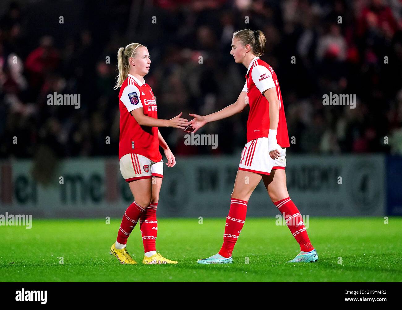
[[[272,159],[268,152],[269,102],[263,95],[267,89],[276,88],[280,108],[277,128],[277,143],[280,157]],[[250,111],[247,121],[247,143],[240,158],[239,170],[269,175],[273,169],[285,169],[286,149],[290,146],[281,89],[275,71],[260,57],[255,57],[248,66],[246,83]]]

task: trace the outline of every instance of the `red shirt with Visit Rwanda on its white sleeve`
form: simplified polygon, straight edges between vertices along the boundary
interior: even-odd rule
[[[269,102],[262,94],[269,88],[275,87],[280,103],[279,122],[277,128],[277,142],[287,148],[289,136],[287,134],[287,125],[285,111],[283,109],[283,100],[278,78],[275,71],[260,57],[255,57],[248,66],[246,74],[246,84],[242,91],[247,91],[250,111],[247,121],[247,142],[256,138],[268,137],[269,133]]]

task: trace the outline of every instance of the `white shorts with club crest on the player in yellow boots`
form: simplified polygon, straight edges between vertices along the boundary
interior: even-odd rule
[[[126,154],[120,158],[120,172],[126,182],[152,176],[163,178],[163,160],[154,162],[140,154]]]

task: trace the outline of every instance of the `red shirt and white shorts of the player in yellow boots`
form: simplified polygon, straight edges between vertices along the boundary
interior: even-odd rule
[[[120,107],[120,171],[126,182],[160,176],[163,160],[159,152],[158,127],[140,126],[131,111],[142,107],[144,115],[158,118],[152,88],[129,74],[119,93]]]

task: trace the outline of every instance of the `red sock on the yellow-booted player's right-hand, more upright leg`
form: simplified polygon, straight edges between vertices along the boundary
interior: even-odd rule
[[[156,251],[156,235],[158,234],[158,221],[156,221],[156,208],[158,203],[151,203],[139,218],[144,251]]]

